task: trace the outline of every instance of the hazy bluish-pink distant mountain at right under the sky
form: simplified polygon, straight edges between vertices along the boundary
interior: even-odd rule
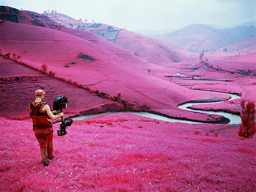
[[[254,26],[237,26],[216,30],[204,24],[192,24],[180,30],[156,37],[174,42],[190,52],[215,52],[231,44],[245,41],[256,35]]]

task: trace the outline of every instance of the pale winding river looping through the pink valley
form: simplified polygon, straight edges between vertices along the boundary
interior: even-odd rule
[[[214,91],[211,91],[211,92],[214,92]],[[229,101],[240,98],[239,96],[237,96],[235,94],[229,94],[229,93],[223,93],[223,94],[228,94],[228,95],[231,96]],[[210,102],[210,103],[221,103],[221,102]],[[200,112],[200,113],[222,115],[222,116],[230,119],[230,122],[228,124],[241,124],[241,117],[239,115],[235,115],[235,114],[231,114],[231,113],[226,113],[226,112],[201,111],[201,110],[193,110],[193,109],[188,109],[187,108],[187,107],[190,107],[191,105],[200,105],[200,104],[205,104],[205,103],[186,103],[184,105],[178,106],[178,108],[184,109],[184,110],[189,110],[189,111]],[[164,116],[160,116],[160,115],[156,115],[156,114],[151,114],[151,113],[131,112],[131,111],[113,112],[113,113],[112,112],[106,112],[106,113],[100,113],[100,114],[93,114],[93,115],[74,117],[72,119],[73,120],[83,120],[83,119],[90,118],[90,117],[93,117],[93,116],[98,116],[98,115],[102,115],[102,114],[114,114],[114,113],[132,113],[132,114],[137,114],[137,115],[140,115],[140,116],[145,116],[145,117],[149,117],[149,118],[152,118],[152,119],[163,120],[163,121],[168,121],[168,122],[180,122],[180,123],[187,123],[187,124],[204,124],[202,122],[194,122],[194,121],[188,121],[188,120],[178,120],[178,119],[167,118],[167,117],[164,117]]]

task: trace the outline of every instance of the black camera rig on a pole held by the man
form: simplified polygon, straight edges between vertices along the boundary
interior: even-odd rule
[[[58,96],[53,102],[53,109],[58,111],[60,109],[60,113],[62,113],[62,108],[67,109],[68,98],[65,96]],[[58,129],[58,136],[63,136],[67,134],[66,128],[71,126],[73,120],[72,119],[64,119],[61,117],[60,129]]]

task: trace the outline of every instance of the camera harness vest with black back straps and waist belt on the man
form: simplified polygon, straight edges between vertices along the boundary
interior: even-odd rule
[[[33,120],[33,127],[37,128],[37,129],[47,129],[49,127],[52,127],[51,122],[49,122],[47,120],[47,113],[40,112],[41,107],[43,107],[43,105],[47,104],[46,102],[41,102],[37,105],[37,107],[35,107],[35,105],[33,105],[33,103],[30,103],[30,109],[32,110],[32,112],[30,113],[30,117]]]

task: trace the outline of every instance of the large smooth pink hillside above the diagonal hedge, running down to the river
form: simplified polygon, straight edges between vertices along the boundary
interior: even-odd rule
[[[112,96],[120,92],[123,100],[144,104],[153,110],[175,110],[180,116],[187,111],[177,109],[179,103],[226,98],[223,94],[204,94],[150,76],[146,69],[137,67],[141,63],[130,63],[92,42],[58,30],[2,22],[1,49],[2,52],[21,54],[22,61],[37,68],[46,63],[48,71],[66,80],[89,85]],[[80,53],[91,56],[95,61],[78,58]],[[72,61],[76,64],[63,67]],[[206,116],[200,113],[197,118],[206,120]]]

